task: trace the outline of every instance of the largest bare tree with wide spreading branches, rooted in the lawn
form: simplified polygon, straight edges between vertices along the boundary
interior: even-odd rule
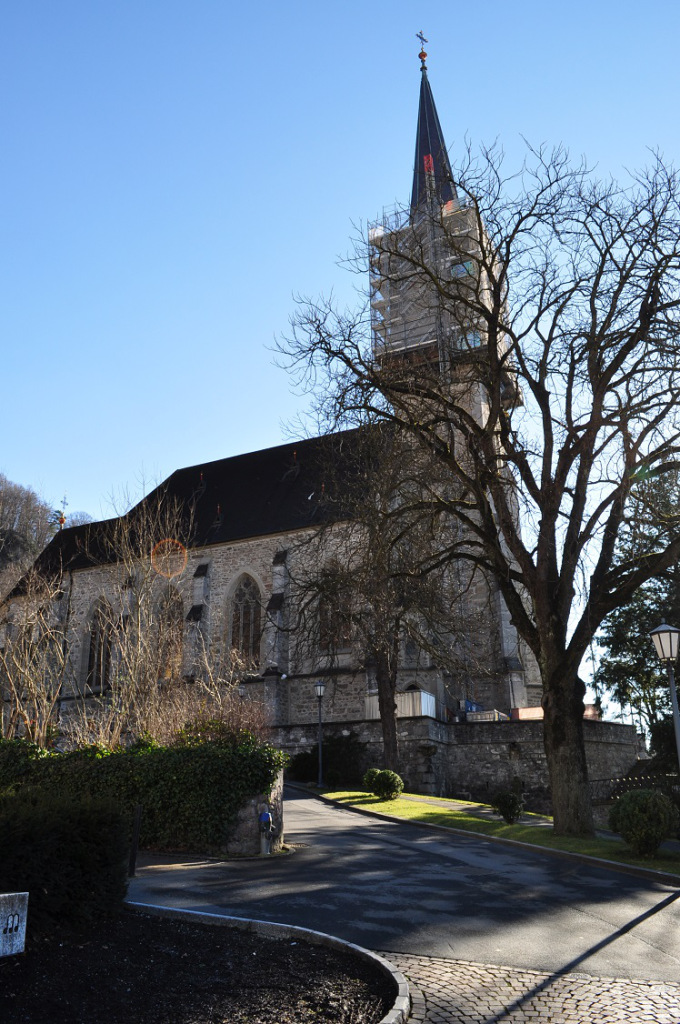
[[[391,422],[450,475],[433,508],[465,545],[440,557],[496,579],[541,672],[555,828],[588,834],[580,665],[680,553],[676,516],[614,560],[637,483],[677,461],[677,175],[656,159],[622,186],[557,150],[508,176],[491,152],[454,195],[360,247],[373,334],[368,308],[308,304],[282,347],[329,427]]]

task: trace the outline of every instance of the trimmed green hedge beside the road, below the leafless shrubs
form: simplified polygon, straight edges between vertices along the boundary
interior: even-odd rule
[[[249,733],[232,742],[66,754],[20,740],[0,741],[0,791],[26,785],[75,799],[113,801],[131,819],[141,804],[142,846],[219,851],[242,805],[273,785],[286,756]]]

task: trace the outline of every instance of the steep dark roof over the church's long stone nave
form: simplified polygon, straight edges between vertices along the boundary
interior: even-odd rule
[[[134,528],[144,505],[167,496],[193,510],[192,548],[303,529],[330,516],[324,476],[341,477],[343,464],[351,471],[356,436],[357,431],[346,430],[178,469],[123,518]],[[60,530],[36,569],[49,574],[110,561],[107,538],[115,523],[109,519]]]

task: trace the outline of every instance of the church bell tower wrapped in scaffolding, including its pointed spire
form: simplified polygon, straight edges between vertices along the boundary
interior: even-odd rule
[[[426,42],[422,34],[419,38]],[[369,227],[373,355],[388,393],[395,396],[397,417],[410,420],[416,430],[429,424],[463,467],[459,477],[445,473],[441,481],[433,477],[431,487],[440,486],[448,495],[464,494],[465,473],[475,473],[471,421],[483,429],[492,397],[499,397],[507,410],[521,403],[521,392],[502,331],[505,300],[498,298],[498,287],[492,287],[500,276],[500,261],[484,229],[483,201],[463,183],[457,187],[424,49],[419,58],[411,199],[408,206],[385,212]],[[498,328],[495,348],[490,345],[490,325]],[[509,474],[507,481],[512,490]],[[454,543],[463,545],[465,527],[459,523],[452,528]],[[499,708],[527,703],[523,662],[534,663],[521,649],[500,591],[464,562],[455,571],[459,621],[474,622],[475,629],[483,621],[487,636],[496,638],[494,652],[491,648],[486,652],[497,669],[485,699]]]

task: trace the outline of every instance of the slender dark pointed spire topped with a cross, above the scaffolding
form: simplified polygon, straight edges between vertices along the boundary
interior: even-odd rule
[[[421,45],[427,40],[422,32],[417,38]],[[456,199],[449,154],[443,140],[434,97],[427,78],[427,53],[421,49],[420,57],[420,103],[418,106],[418,129],[416,134],[416,160],[413,170],[411,193],[411,216],[418,210],[425,210],[432,202],[443,206]]]

